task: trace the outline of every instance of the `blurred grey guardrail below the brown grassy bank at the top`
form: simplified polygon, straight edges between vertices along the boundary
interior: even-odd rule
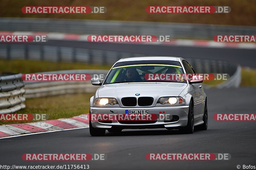
[[[172,38],[194,39],[212,39],[214,35],[256,34],[256,28],[253,26],[5,17],[0,18],[0,30],[109,35],[170,35]]]

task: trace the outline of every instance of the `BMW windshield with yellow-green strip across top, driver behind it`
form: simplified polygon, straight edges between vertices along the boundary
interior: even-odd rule
[[[177,82],[187,83],[184,79],[170,78],[170,75],[183,74],[177,61],[130,61],[119,62],[110,70],[104,85],[128,82]],[[168,78],[165,76],[169,76]],[[161,78],[159,78],[161,77]],[[163,79],[164,77],[164,79]]]

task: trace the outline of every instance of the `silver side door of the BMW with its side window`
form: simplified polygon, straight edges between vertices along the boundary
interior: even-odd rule
[[[195,74],[194,69],[191,67],[191,65],[183,60],[182,61],[185,71],[187,74]],[[194,118],[199,118],[202,116],[202,108],[203,108],[203,86],[202,83],[196,83],[196,84],[190,84],[194,89]]]

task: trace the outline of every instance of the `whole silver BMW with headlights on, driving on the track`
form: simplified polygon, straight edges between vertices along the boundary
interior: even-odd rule
[[[90,99],[92,136],[122,129],[179,129],[208,126],[203,79],[181,57],[130,57],[117,61]]]

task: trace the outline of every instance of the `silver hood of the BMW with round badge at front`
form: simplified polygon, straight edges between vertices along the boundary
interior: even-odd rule
[[[186,83],[171,82],[116,83],[102,85],[98,89],[98,96],[116,99],[147,96],[158,99],[164,96],[179,96],[186,87]],[[136,93],[140,95],[136,96]]]

